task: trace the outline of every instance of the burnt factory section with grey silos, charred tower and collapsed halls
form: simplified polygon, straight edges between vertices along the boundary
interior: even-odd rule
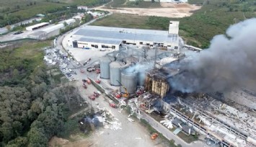
[[[157,68],[157,62],[151,57],[141,61],[138,54],[131,55],[127,50],[119,50],[116,54],[100,58],[100,79],[107,80],[112,86],[120,86],[120,97],[139,95],[137,100],[131,99],[134,112],[164,112],[167,117],[163,121],[171,124],[169,128],[180,128],[187,135],[195,135],[195,132],[206,135],[208,143],[214,146],[256,145],[256,118],[247,112],[249,108],[237,110],[208,94],[170,96],[177,92],[172,90],[169,79],[181,72],[170,68],[170,65],[182,60],[184,55],[166,55],[159,49],[151,50],[158,50],[156,61],[172,58],[169,60],[171,62]],[[118,53],[122,52],[127,56],[118,57]],[[146,93],[140,93],[140,89]],[[113,93],[112,96],[116,97],[117,94]]]

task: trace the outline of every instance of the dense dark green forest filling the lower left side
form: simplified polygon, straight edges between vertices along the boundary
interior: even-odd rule
[[[40,62],[18,57],[17,46],[0,52],[0,146],[48,146],[63,131],[69,111],[80,106],[77,89],[49,74],[51,68],[35,55],[43,50],[34,53]]]

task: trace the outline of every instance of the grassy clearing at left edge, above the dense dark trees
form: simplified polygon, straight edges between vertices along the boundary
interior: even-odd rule
[[[35,68],[43,65],[43,47],[51,41],[22,41],[1,49],[0,54],[0,86],[17,86],[27,82],[27,78]],[[19,76],[13,76],[13,73]]]

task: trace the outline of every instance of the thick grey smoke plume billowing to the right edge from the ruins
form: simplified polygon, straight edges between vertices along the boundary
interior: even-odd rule
[[[216,35],[207,50],[182,61],[182,74],[170,80],[181,92],[225,92],[249,86],[256,89],[256,19],[231,25]]]

